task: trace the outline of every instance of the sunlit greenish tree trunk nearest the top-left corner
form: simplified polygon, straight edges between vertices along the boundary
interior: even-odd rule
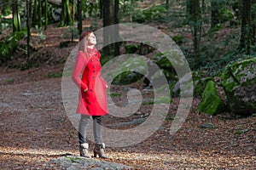
[[[13,32],[21,31],[18,0],[13,1]]]

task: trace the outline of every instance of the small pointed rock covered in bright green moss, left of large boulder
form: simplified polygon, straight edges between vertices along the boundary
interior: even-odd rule
[[[218,96],[216,89],[216,83],[213,81],[207,82],[207,86],[202,94],[201,104],[198,111],[206,113],[208,115],[216,115],[223,111],[224,104],[221,98]]]

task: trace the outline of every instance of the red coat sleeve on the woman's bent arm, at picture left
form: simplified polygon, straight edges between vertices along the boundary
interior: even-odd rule
[[[75,65],[73,67],[73,72],[72,72],[72,80],[73,82],[84,91],[85,89],[88,89],[87,85],[81,81],[80,74],[82,71],[84,71],[84,65],[85,65],[85,59],[84,59],[84,54],[79,53]]]

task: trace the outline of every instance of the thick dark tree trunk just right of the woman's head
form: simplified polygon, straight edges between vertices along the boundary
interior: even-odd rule
[[[119,0],[104,0],[103,1],[103,27],[112,26],[119,24]],[[103,44],[108,44],[109,42],[118,42],[119,38],[119,28],[114,26],[113,29],[103,30]],[[119,54],[119,43],[109,44],[103,48],[104,54]]]

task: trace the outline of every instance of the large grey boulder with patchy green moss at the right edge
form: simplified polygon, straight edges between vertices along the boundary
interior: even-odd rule
[[[256,58],[228,65],[221,78],[230,110],[242,116],[255,113]]]

